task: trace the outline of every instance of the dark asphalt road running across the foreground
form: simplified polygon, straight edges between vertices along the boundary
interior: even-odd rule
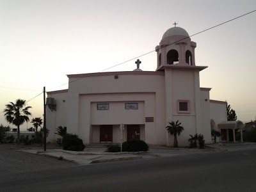
[[[0,191],[255,191],[256,150],[8,173]]]

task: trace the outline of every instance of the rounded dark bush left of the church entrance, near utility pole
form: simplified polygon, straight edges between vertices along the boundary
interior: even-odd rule
[[[83,151],[83,140],[79,139],[76,134],[66,134],[62,139],[63,150]]]

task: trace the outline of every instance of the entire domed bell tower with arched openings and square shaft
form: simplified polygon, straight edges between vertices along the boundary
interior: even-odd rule
[[[185,129],[180,134],[184,141],[189,134],[211,135],[207,132],[210,129],[204,129],[208,125],[207,120],[202,118],[201,103],[205,100],[202,101],[199,78],[199,72],[207,67],[195,65],[195,47],[196,43],[191,41],[188,32],[176,26],[164,33],[156,47],[156,70],[164,72],[166,126],[168,122],[180,120],[182,126],[189,127],[189,132]],[[173,143],[173,137],[168,132],[166,143]]]

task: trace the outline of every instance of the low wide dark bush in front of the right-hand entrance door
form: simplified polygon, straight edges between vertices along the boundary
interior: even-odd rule
[[[141,140],[129,140],[125,141],[122,145],[122,151],[127,152],[138,152],[138,151],[147,151],[148,145]]]

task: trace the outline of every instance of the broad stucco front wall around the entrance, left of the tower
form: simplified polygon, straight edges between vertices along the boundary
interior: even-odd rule
[[[141,73],[141,72],[139,72]],[[164,76],[163,72],[154,72],[143,75],[136,74],[101,74],[101,76],[83,77],[70,83],[68,93],[68,131],[79,134],[84,143],[92,143],[93,124],[136,124],[145,125],[145,141],[154,145],[165,145],[166,130],[164,105]],[[71,77],[69,81],[76,80]],[[104,111],[93,111],[98,103],[108,102],[114,106],[111,115],[102,116],[97,122],[97,116]],[[138,111],[125,111],[125,102],[138,102]],[[115,103],[115,104],[114,104]],[[113,105],[114,104],[114,105]],[[94,106],[95,105],[95,106]],[[112,110],[111,109],[111,110]],[[105,111],[106,112],[106,111]],[[92,116],[91,116],[92,113]],[[144,113],[144,115],[142,115]],[[107,113],[106,113],[107,114]],[[109,113],[110,114],[110,113]],[[145,122],[145,117],[153,117],[154,122]],[[110,120],[111,119],[111,120]],[[156,126],[157,124],[157,126]],[[157,129],[157,130],[156,130]]]

